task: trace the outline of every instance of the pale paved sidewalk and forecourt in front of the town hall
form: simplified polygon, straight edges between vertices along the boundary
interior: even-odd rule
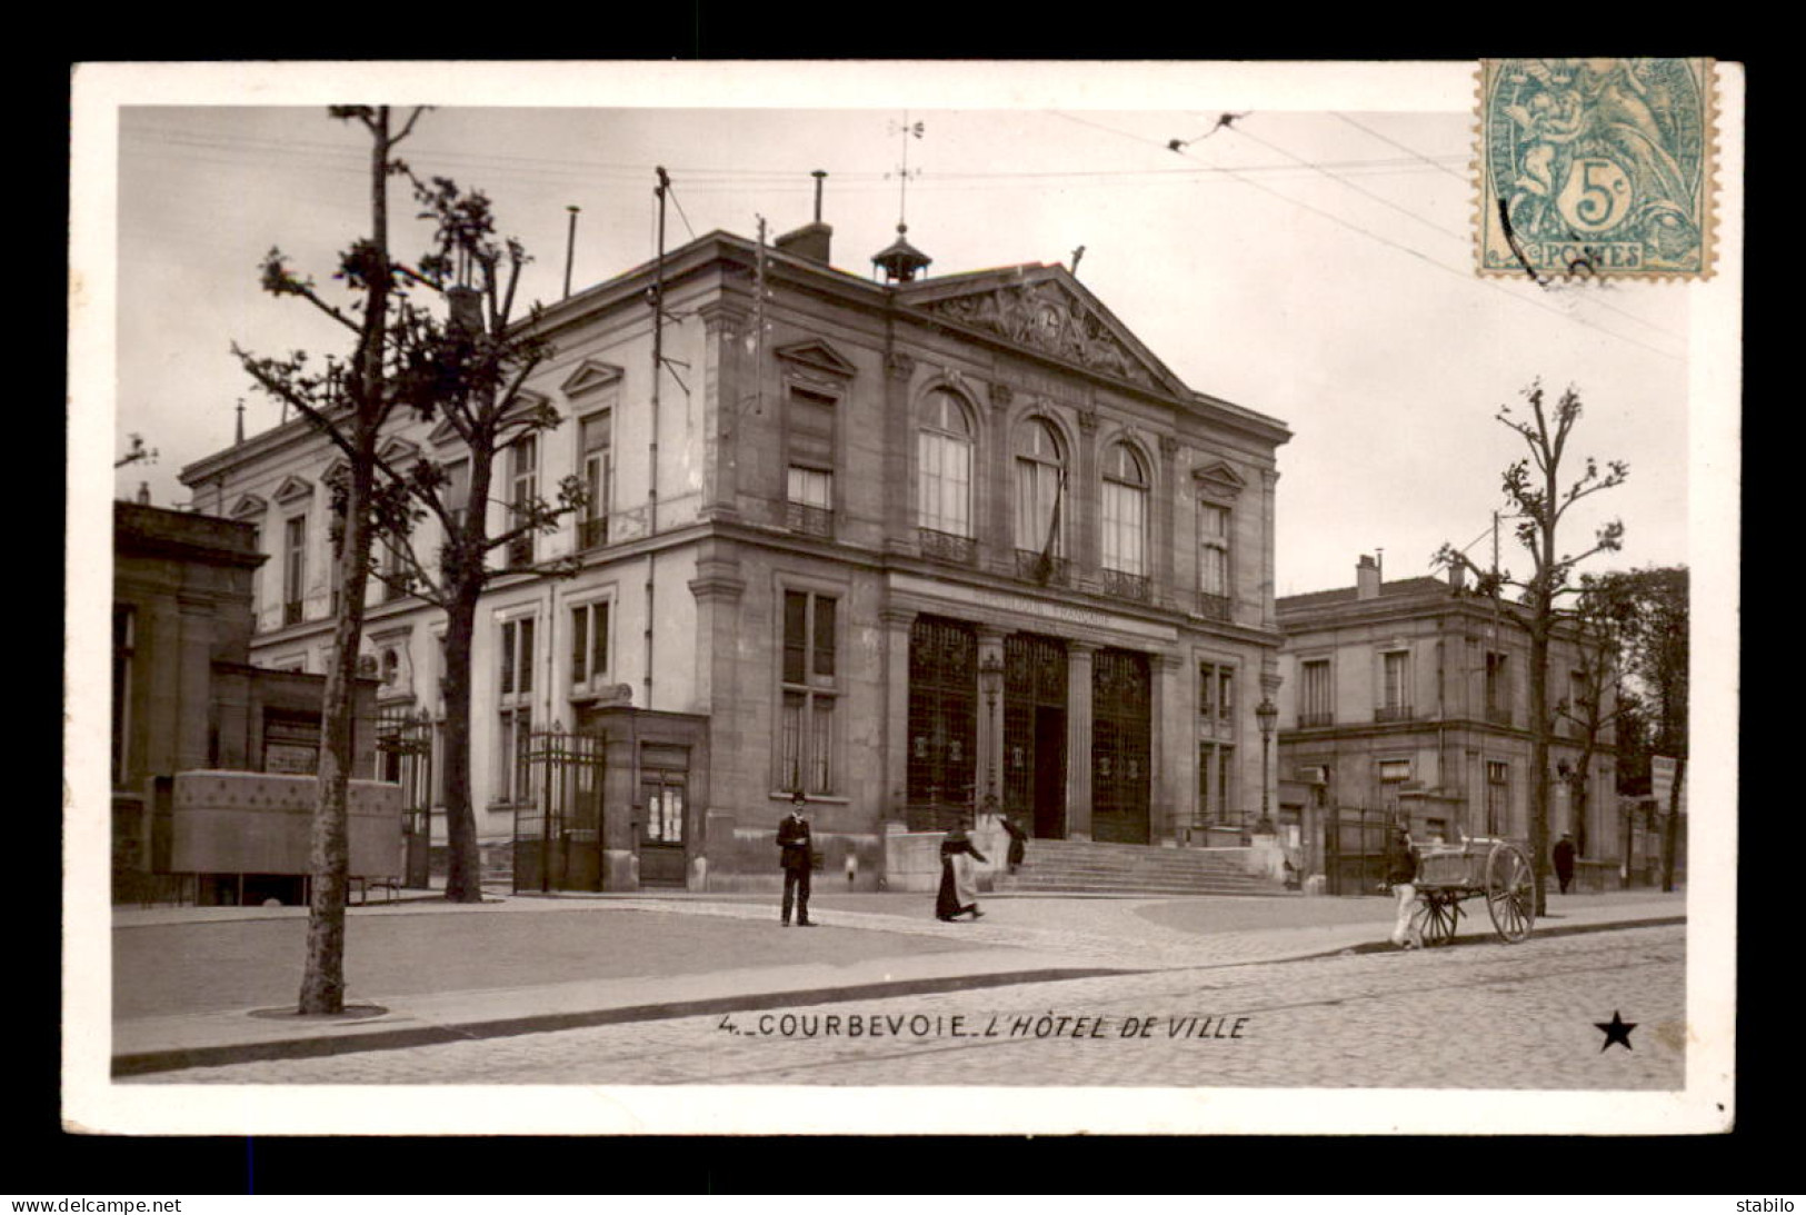
[[[350,908],[340,1018],[289,1011],[305,908],[121,908],[114,1072],[1391,948],[1389,899],[988,897],[984,919],[957,924],[930,901],[822,894],[811,932],[780,928],[762,895]],[[1680,892],[1551,895],[1537,932],[1676,923],[1685,906]],[[1483,901],[1468,910],[1456,944],[1494,944]]]

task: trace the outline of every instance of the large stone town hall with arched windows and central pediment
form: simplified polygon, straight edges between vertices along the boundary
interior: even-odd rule
[[[497,554],[479,617],[477,825],[517,885],[775,883],[796,789],[865,888],[887,836],[993,805],[1183,847],[1261,803],[1286,426],[1181,383],[1060,265],[925,276],[899,231],[878,280],[831,238],[710,233],[536,321],[562,424],[466,504],[495,534],[565,477],[591,496]],[[453,486],[468,459],[408,421],[385,455]],[[258,666],[325,670],[332,462],[296,421],[182,471],[269,558]],[[442,628],[372,585],[390,720],[439,719]]]

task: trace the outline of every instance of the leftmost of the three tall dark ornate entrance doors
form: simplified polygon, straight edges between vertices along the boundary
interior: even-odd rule
[[[972,811],[977,764],[979,635],[923,616],[908,637],[908,820],[959,825]]]

